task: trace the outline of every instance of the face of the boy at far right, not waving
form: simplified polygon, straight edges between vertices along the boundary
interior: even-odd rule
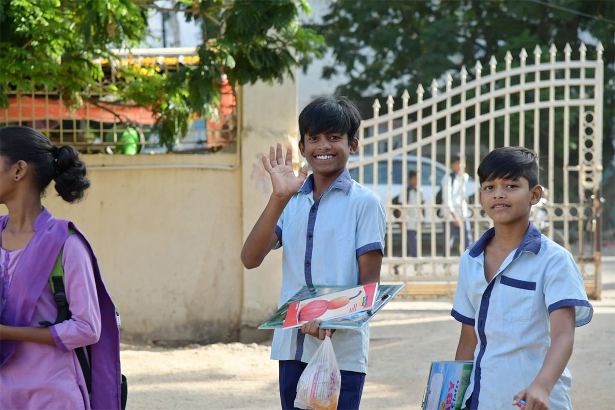
[[[530,183],[524,177],[491,179],[483,181],[480,187],[480,205],[496,224],[525,223],[532,205],[536,205],[541,196],[541,187],[530,189]]]

